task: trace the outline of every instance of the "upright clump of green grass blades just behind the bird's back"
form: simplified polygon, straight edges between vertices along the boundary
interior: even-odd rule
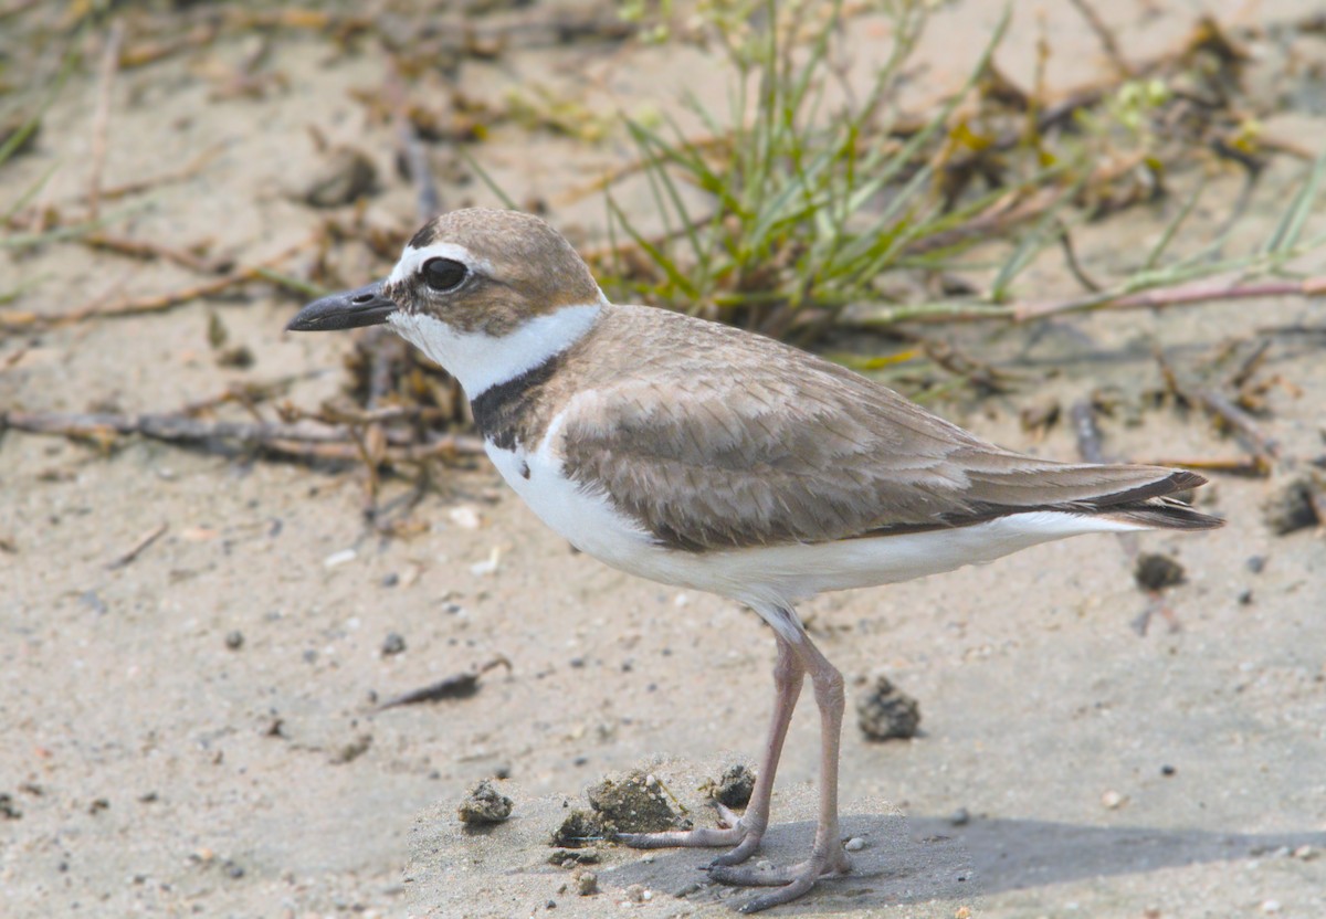
[[[805,0],[760,5],[762,28],[716,20],[735,65],[727,125],[686,98],[711,131],[708,143],[671,121],[666,130],[627,122],[664,232],[646,236],[609,188],[611,231],[647,256],[643,271],[619,259],[610,269],[617,285],[650,302],[684,304],[778,337],[814,337],[837,310],[870,297],[876,278],[915,256],[922,240],[994,203],[980,196],[945,207],[936,182],[943,164],[923,153],[985,72],[1008,17],[963,92],[926,123],[903,129],[887,123],[886,110],[924,25],[923,4],[894,8],[892,50],[855,102],[834,60],[841,4],[830,15]],[[831,92],[847,99],[835,110]],[[703,203],[690,188],[703,192]],[[967,244],[955,239],[943,248],[952,255]]]

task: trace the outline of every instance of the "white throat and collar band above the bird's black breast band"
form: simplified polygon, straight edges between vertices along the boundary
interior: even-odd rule
[[[387,322],[402,338],[460,381],[471,400],[499,383],[533,370],[585,336],[602,312],[601,304],[562,306],[536,316],[509,336],[457,332],[432,316],[396,310]]]

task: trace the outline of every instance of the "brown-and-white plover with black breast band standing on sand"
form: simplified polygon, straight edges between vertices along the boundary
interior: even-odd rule
[[[436,217],[385,281],[309,304],[289,328],[383,322],[460,382],[493,465],[544,522],[614,568],[729,597],[772,626],[773,720],[745,813],[621,838],[732,846],[712,878],[776,887],[745,912],[850,870],[838,838],[843,680],[797,602],[1066,536],[1221,522],[1172,497],[1203,484],[1193,472],[1017,454],[794,347],[611,304],[557,231],[514,211]],[[806,676],[821,723],[814,843],[800,865],[754,870],[743,863],[769,825]]]

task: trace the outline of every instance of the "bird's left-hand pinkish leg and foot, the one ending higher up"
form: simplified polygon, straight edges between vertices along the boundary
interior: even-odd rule
[[[778,757],[782,755],[782,741],[788,736],[792,711],[797,707],[801,686],[805,682],[806,666],[802,656],[782,635],[777,635],[778,662],[773,667],[773,720],[769,724],[764,756],[756,773],[751,804],[740,818],[719,805],[719,813],[727,824],[721,829],[696,827],[668,833],[622,833],[619,842],[636,849],[662,849],[664,846],[735,846],[713,859],[712,866],[740,865],[760,849],[760,839],[769,827],[769,805],[773,796],[773,776],[778,770]]]

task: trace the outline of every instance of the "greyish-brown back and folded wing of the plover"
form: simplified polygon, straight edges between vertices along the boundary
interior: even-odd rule
[[[825,542],[1041,508],[1160,517],[1148,501],[1203,481],[1014,454],[858,374],[727,326],[631,306],[603,321],[609,334],[568,357],[589,386],[569,403],[561,451],[573,479],[603,488],[666,545]],[[644,330],[642,354],[610,350],[629,329]]]

